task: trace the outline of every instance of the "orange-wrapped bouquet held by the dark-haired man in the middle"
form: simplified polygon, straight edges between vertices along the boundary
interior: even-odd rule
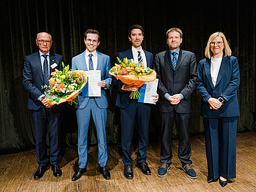
[[[119,64],[115,63],[115,66],[109,70],[109,74],[120,79],[126,85],[137,85],[141,87],[145,82],[154,81],[156,79],[156,71],[149,67],[144,67],[144,63],[135,63],[134,60],[128,60],[127,57],[123,59],[123,62],[117,57]],[[140,92],[132,91],[130,93],[130,99],[139,99]]]

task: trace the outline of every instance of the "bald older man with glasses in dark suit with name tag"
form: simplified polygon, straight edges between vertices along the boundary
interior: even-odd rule
[[[59,156],[60,156],[60,123],[62,111],[59,106],[50,106],[45,98],[42,85],[48,85],[51,72],[55,69],[62,70],[62,55],[50,52],[53,40],[50,34],[41,32],[37,34],[36,45],[39,52],[25,56],[23,69],[23,86],[29,92],[28,109],[32,109],[32,117],[35,125],[36,156],[39,167],[34,174],[34,179],[43,177],[46,171],[47,149],[46,133],[47,123],[50,135],[50,164],[53,175],[60,177]]]

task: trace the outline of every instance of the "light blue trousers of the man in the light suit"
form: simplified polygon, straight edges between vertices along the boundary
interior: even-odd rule
[[[100,109],[97,106],[95,99],[90,99],[85,108],[76,110],[80,168],[85,168],[88,160],[87,139],[90,114],[93,116],[93,121],[97,131],[98,159],[100,167],[104,167],[107,164],[107,109]]]

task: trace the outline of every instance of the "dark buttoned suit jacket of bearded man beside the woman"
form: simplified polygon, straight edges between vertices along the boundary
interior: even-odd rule
[[[154,60],[156,78],[159,78],[159,111],[191,113],[191,94],[196,88],[196,55],[181,50],[174,70],[170,59],[170,49],[156,54]],[[170,104],[163,96],[182,93],[184,98],[178,104]]]

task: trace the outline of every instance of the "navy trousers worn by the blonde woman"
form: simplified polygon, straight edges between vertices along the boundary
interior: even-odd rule
[[[238,117],[203,118],[210,178],[236,178],[237,120]]]

